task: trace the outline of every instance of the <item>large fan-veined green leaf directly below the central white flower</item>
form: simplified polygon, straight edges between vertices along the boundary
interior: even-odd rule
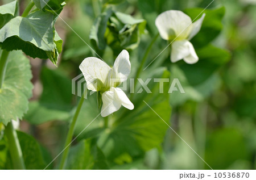
[[[171,108],[167,100],[154,105],[147,103],[168,123]],[[151,108],[144,104],[143,108],[117,119],[111,128],[101,133],[98,145],[106,157],[119,162],[125,154],[138,156],[162,143],[168,125]]]

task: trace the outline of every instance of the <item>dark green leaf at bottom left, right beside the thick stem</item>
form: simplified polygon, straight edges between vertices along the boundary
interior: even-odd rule
[[[43,150],[34,137],[17,131],[26,169],[44,169],[49,162],[43,158]]]

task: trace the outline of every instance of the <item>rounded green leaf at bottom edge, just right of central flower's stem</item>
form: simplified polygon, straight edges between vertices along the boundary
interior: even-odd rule
[[[94,143],[82,140],[69,151],[65,169],[109,169],[104,154]]]

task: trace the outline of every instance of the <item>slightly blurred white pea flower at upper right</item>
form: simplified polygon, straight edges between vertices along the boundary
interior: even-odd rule
[[[195,23],[192,23],[191,18],[184,12],[170,10],[163,12],[156,18],[155,25],[160,36],[164,40],[175,40],[172,43],[172,62],[184,59],[188,64],[194,64],[199,60],[189,40],[200,31],[204,16],[205,14]]]

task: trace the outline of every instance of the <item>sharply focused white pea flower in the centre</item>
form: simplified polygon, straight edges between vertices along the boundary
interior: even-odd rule
[[[131,72],[129,53],[123,50],[114,62],[113,69],[96,57],[88,57],[79,66],[84,74],[87,88],[102,94],[101,116],[118,111],[121,106],[133,110],[133,103],[117,86],[126,81]]]

